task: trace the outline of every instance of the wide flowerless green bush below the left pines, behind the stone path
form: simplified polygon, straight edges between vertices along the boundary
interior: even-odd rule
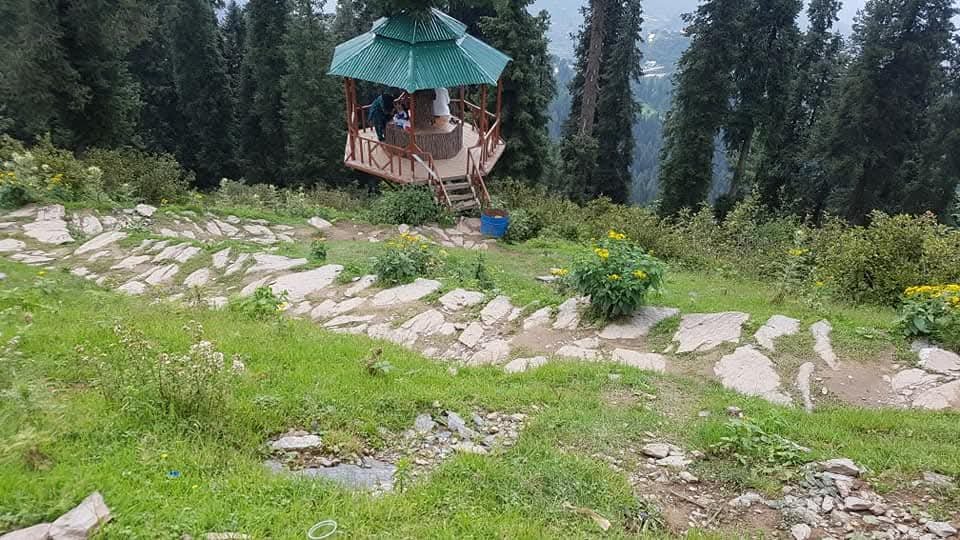
[[[103,189],[110,198],[152,204],[187,200],[193,174],[184,171],[169,154],[150,154],[132,148],[94,149],[83,159],[103,171]]]

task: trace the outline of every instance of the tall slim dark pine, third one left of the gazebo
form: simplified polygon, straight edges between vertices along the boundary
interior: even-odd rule
[[[173,80],[186,121],[177,155],[201,185],[234,172],[233,118],[220,33],[209,0],[177,0],[169,22]]]

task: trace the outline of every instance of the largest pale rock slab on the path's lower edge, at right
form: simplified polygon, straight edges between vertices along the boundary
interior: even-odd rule
[[[749,345],[721,358],[713,366],[713,372],[724,387],[741,394],[780,404],[791,401],[789,396],[780,392],[780,375],[773,362]]]

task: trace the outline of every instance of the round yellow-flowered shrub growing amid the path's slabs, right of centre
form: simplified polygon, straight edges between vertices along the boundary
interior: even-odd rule
[[[590,297],[593,311],[612,319],[632,314],[646,302],[648,292],[659,291],[663,272],[660,260],[611,230],[592,254],[575,263],[571,275],[577,291]],[[563,270],[554,273],[562,277]]]

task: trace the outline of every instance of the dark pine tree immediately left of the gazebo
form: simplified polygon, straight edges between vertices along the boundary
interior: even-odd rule
[[[332,182],[343,171],[343,88],[326,74],[333,42],[321,8],[316,0],[294,0],[284,37],[287,176],[297,182]]]

